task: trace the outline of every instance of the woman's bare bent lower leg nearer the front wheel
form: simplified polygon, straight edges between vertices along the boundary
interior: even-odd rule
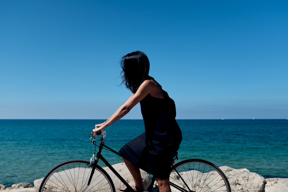
[[[136,167],[134,164],[132,164],[130,161],[128,161],[127,159],[125,159],[123,157],[122,157],[122,159],[123,159],[125,165],[127,166],[128,170],[130,171],[130,173],[131,173],[131,175],[132,175],[132,177],[133,177],[133,179],[135,181],[135,189],[136,189],[136,191],[143,191],[144,190],[144,185],[143,185],[143,182],[142,182],[140,169],[138,167]]]

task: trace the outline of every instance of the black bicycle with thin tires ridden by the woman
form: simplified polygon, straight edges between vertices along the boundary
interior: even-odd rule
[[[107,132],[101,133],[100,138],[96,139],[93,133],[89,138],[95,150],[92,158],[86,160],[70,160],[54,167],[42,180],[39,192],[115,192],[113,181],[109,174],[98,165],[101,159],[105,165],[122,181],[129,189],[132,187],[124,180],[122,176],[109,164],[101,155],[104,149],[120,155],[117,151],[105,145]],[[97,145],[99,142],[99,146]],[[96,153],[96,147],[98,151]],[[94,157],[96,153],[96,156]],[[178,160],[175,155],[175,160]],[[147,192],[152,192],[156,177],[153,176]],[[171,165],[170,188],[175,192],[200,192],[200,191],[226,191],[231,192],[230,184],[225,174],[214,164],[202,159],[187,159],[175,165]]]

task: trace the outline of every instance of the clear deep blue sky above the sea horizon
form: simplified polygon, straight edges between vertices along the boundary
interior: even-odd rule
[[[286,119],[287,2],[0,1],[0,119],[109,118],[137,50],[177,119]]]

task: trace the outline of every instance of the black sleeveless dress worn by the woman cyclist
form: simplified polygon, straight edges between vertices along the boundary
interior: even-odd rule
[[[164,99],[147,95],[140,101],[145,132],[124,145],[119,152],[140,169],[158,178],[169,179],[182,133],[175,120],[175,102],[166,91],[162,90],[162,93]]]

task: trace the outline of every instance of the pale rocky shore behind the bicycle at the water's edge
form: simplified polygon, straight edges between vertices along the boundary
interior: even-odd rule
[[[115,164],[113,167],[121,172],[121,175],[124,176],[124,179],[128,181],[130,185],[134,185],[134,181],[130,172],[124,165],[124,163]],[[259,174],[250,172],[247,169],[233,169],[227,166],[220,167],[220,169],[227,176],[232,192],[288,192],[288,178],[267,178],[265,179]],[[113,176],[114,174],[106,170],[111,176],[116,191],[120,187],[123,187],[121,181]],[[145,187],[148,187],[150,184],[149,175],[141,170],[143,183]],[[0,185],[0,191],[3,192],[37,192],[38,187],[41,184],[43,178],[37,179],[34,181],[34,186],[28,183],[20,183],[12,185],[12,187],[6,187]]]

